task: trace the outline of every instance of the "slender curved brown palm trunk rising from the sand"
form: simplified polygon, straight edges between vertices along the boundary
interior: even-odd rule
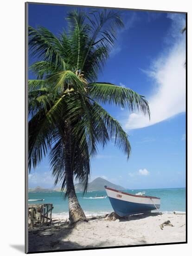
[[[86,216],[81,208],[77,195],[75,193],[75,187],[73,183],[73,170],[71,168],[71,134],[70,124],[65,122],[65,136],[64,136],[64,149],[65,149],[65,179],[67,187],[67,196],[69,204],[69,220],[71,223],[85,220]]]

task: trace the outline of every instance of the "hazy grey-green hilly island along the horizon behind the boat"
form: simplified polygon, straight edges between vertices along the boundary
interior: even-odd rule
[[[88,191],[103,191],[104,186],[108,186],[113,189],[117,190],[125,190],[122,186],[115,185],[105,179],[102,179],[100,177],[96,178],[92,182],[88,184]],[[77,183],[75,184],[75,190],[78,192],[83,191],[83,184],[82,183]],[[51,193],[51,192],[60,192],[61,188],[55,188],[55,189],[44,189],[42,187],[36,187],[34,189],[28,189],[29,193]]]

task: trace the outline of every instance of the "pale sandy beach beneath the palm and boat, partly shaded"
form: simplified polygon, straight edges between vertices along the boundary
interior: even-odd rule
[[[186,241],[186,215],[158,214],[129,216],[128,219],[90,219],[71,227],[53,219],[50,227],[29,230],[29,251],[128,246]],[[170,221],[173,225],[160,224]]]

